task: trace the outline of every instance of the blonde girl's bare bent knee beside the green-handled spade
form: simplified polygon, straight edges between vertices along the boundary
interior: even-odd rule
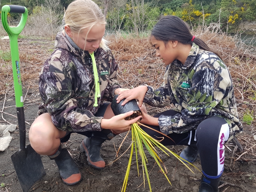
[[[29,130],[31,147],[40,155],[51,155],[58,149],[60,139],[66,134],[57,129],[48,113],[37,117]]]

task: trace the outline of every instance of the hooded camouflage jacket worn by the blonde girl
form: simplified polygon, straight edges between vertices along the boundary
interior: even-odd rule
[[[74,46],[72,46],[74,45]],[[94,51],[100,81],[101,97],[93,107],[95,83],[93,65],[88,51],[83,51],[59,32],[55,50],[45,61],[39,76],[39,92],[43,103],[38,114],[49,113],[53,124],[63,131],[101,131],[101,119],[95,117],[100,104],[112,101],[119,86],[113,78],[118,65],[111,51]]]

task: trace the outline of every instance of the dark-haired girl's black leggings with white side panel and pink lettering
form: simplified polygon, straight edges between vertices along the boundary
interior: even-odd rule
[[[160,115],[173,116],[177,113],[179,112],[167,110],[155,115],[154,117],[159,117]],[[147,126],[160,131],[159,126]],[[163,137],[162,134],[154,130],[143,126],[141,128],[155,139],[159,140],[159,137]],[[223,143],[227,141],[229,137],[229,128],[225,119],[220,116],[212,116],[203,120],[198,125],[197,130],[192,130],[181,134],[171,133],[168,134],[168,136],[173,139],[174,142],[168,137],[164,137],[161,143],[165,146],[196,145],[198,147],[201,166],[204,174],[215,177],[222,173],[224,165]]]

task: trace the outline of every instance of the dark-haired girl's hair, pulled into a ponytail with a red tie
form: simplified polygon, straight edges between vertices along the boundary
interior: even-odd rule
[[[193,39],[189,25],[174,15],[162,17],[153,27],[151,35],[154,36],[155,39],[165,42],[165,44],[167,44],[169,40],[179,41],[183,44],[190,45],[192,45],[194,42],[199,46],[200,49],[213,52],[219,58],[221,58],[219,53],[210,49],[210,47],[208,47],[202,39],[197,37]],[[192,39],[193,41],[191,41]]]

